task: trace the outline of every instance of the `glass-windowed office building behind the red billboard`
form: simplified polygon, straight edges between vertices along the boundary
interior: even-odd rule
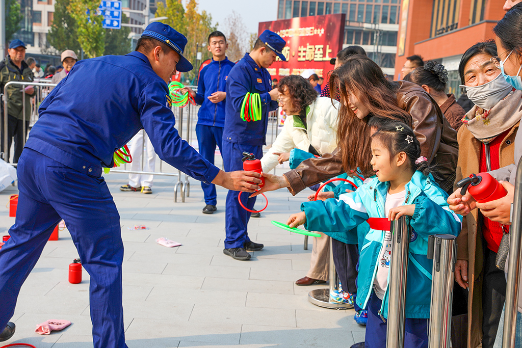
[[[399,0],[279,0],[277,19],[329,15],[346,15],[343,47],[359,45],[383,68],[390,78],[395,75]],[[399,69],[400,70],[400,69]]]

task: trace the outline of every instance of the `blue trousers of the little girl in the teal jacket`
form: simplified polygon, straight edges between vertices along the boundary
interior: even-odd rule
[[[364,348],[386,347],[386,323],[383,322],[378,311],[381,310],[382,300],[372,293],[368,302],[368,323],[366,324],[366,335]],[[428,348],[429,319],[406,318],[404,347],[405,348]]]

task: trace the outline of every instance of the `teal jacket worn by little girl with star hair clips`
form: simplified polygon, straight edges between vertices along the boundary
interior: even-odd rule
[[[361,185],[355,192],[342,194],[340,200],[305,202],[301,210],[306,213],[305,229],[322,231],[341,242],[353,241],[353,228],[365,223],[369,218],[386,218],[384,202],[389,183],[377,178]],[[433,181],[417,171],[406,184],[406,198],[403,205],[415,205],[410,219],[412,235],[410,239],[410,261],[406,284],[406,317],[429,318],[431,300],[431,273],[433,262],[426,258],[428,237],[433,234],[457,236],[461,229],[461,217],[448,208],[447,194]],[[384,231],[365,231],[359,238],[359,277],[357,279],[357,304],[366,308],[373,291],[377,272],[379,251],[384,240]],[[388,291],[383,298],[379,315],[388,316]]]

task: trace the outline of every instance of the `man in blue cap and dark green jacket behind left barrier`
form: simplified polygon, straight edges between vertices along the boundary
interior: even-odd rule
[[[32,86],[11,85],[4,88],[9,81],[32,82],[33,73],[27,63],[23,60],[26,57],[26,45],[21,40],[13,40],[7,50],[8,55],[0,62],[0,93],[4,93],[7,98],[7,149],[4,149],[4,104],[2,103],[2,158],[8,162],[11,148],[11,141],[15,138],[15,155],[13,162],[17,163],[22,153],[25,137],[29,128],[29,118],[31,117],[31,100],[35,92]],[[23,92],[21,90],[23,89]],[[23,94],[25,98],[25,114],[23,113]],[[6,153],[4,153],[6,151]]]

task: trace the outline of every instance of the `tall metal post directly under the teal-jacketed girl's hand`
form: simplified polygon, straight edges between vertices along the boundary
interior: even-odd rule
[[[403,348],[406,322],[406,278],[410,249],[410,218],[392,221],[392,260],[388,284],[386,348]]]

